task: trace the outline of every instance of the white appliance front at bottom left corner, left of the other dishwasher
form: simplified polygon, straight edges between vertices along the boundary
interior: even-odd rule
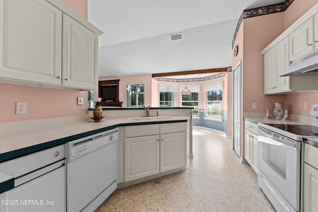
[[[0,194],[0,212],[65,212],[65,144],[0,163],[14,188]]]

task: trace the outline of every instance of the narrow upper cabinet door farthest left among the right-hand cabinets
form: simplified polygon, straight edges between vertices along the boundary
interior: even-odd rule
[[[270,49],[264,54],[264,93],[274,93],[274,75],[275,75],[275,50]]]

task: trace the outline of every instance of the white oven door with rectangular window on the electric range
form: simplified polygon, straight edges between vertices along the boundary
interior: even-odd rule
[[[276,199],[283,196],[296,211],[300,211],[300,149],[300,141],[288,139],[268,130],[265,132],[258,130],[258,169],[261,171],[258,176],[259,185],[274,186],[267,188],[271,191],[270,195],[275,196]],[[269,183],[263,183],[265,181]]]

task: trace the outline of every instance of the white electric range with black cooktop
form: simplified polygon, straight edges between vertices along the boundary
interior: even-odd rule
[[[301,141],[318,141],[318,105],[312,125],[258,123],[258,184],[279,212],[300,211]]]

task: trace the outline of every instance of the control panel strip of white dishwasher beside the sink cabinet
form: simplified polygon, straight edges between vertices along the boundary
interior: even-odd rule
[[[116,142],[118,139],[118,129],[94,134],[82,139],[66,143],[66,161],[70,162],[84,154],[92,152],[104,145]]]

